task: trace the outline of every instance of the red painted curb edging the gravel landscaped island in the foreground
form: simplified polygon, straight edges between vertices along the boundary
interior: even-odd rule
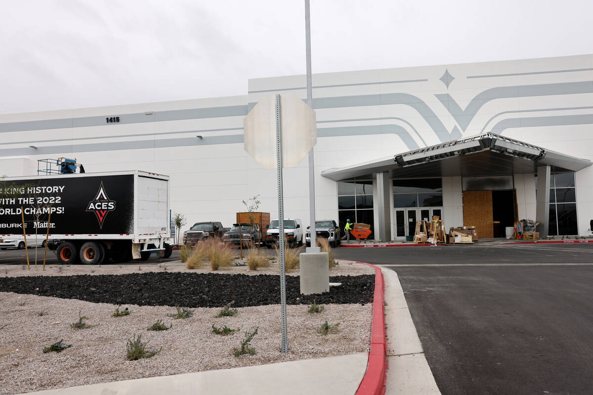
[[[385,393],[385,374],[387,372],[387,339],[385,339],[385,316],[383,313],[385,283],[380,268],[365,262],[357,263],[375,268],[375,294],[373,296],[371,351],[365,375],[358,386],[356,395],[382,395]]]

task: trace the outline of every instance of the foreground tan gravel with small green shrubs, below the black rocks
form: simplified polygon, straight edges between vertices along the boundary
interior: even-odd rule
[[[21,303],[23,303],[21,306]],[[326,304],[318,314],[307,306],[288,306],[289,353],[280,353],[280,306],[240,307],[232,317],[215,318],[219,308],[197,308],[188,319],[172,319],[173,307],[123,305],[129,316],[111,317],[116,306],[34,295],[0,292],[0,394],[71,387],[132,378],[268,364],[368,351],[371,304]],[[46,311],[39,316],[39,311]],[[89,317],[90,329],[72,329],[79,311]],[[147,331],[157,321],[173,325],[162,332]],[[325,321],[340,322],[339,332],[319,335]],[[212,325],[240,332],[221,336]],[[255,355],[235,357],[246,331],[259,327],[251,341]],[[160,354],[127,361],[126,342],[134,334]],[[59,354],[43,354],[45,346],[63,339],[72,344]]]

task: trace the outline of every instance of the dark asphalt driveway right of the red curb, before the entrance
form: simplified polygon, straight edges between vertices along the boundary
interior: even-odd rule
[[[593,393],[593,244],[337,255],[397,272],[443,395]]]

